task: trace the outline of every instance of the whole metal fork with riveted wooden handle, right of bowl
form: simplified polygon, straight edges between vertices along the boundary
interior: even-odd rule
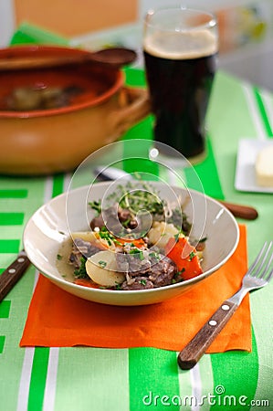
[[[273,242],[266,241],[259,251],[257,258],[247,270],[240,290],[231,298],[225,300],[205,325],[188,342],[184,349],[178,354],[177,362],[181,369],[189,370],[200,360],[205,350],[215,340],[215,337],[224,328],[226,322],[234,314],[248,291],[257,290],[268,284],[273,277]]]

